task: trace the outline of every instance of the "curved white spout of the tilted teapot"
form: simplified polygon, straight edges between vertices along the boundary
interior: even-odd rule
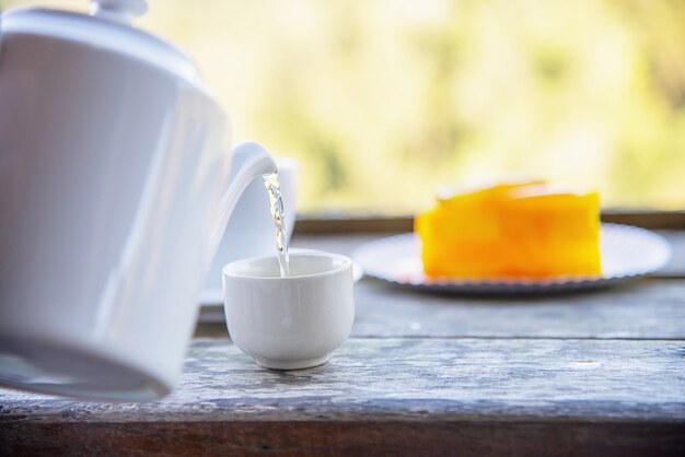
[[[269,152],[259,143],[245,141],[233,148],[231,152],[231,174],[229,188],[219,201],[219,218],[210,232],[209,246],[211,255],[219,246],[231,213],[235,209],[240,197],[243,195],[254,178],[270,173],[276,173],[276,162]],[[266,192],[266,189],[264,190]],[[211,256],[210,256],[211,257]]]

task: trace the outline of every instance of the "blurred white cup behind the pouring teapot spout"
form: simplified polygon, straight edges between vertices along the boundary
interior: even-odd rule
[[[276,159],[286,215],[288,239],[295,222],[298,163],[294,159]],[[276,228],[269,211],[269,198],[262,178],[255,178],[241,196],[209,269],[200,303],[222,303],[221,269],[247,257],[276,255]]]

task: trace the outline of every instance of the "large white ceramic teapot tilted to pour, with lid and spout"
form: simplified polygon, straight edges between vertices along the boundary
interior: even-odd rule
[[[0,16],[0,384],[150,400],[175,385],[241,192],[272,173],[143,0]],[[249,231],[246,226],[245,231]],[[236,241],[240,243],[240,241]]]

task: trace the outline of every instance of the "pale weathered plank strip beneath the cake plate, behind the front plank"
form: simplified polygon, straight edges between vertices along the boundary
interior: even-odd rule
[[[431,295],[367,279],[355,289],[355,337],[685,339],[685,280],[523,298]],[[225,337],[223,308],[204,313],[218,324],[198,336]]]

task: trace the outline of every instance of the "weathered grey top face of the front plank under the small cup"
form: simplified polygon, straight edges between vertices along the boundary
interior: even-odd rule
[[[0,424],[32,421],[676,420],[685,342],[350,339],[328,364],[259,368],[228,340],[196,340],[155,403],[78,402],[0,390]]]

